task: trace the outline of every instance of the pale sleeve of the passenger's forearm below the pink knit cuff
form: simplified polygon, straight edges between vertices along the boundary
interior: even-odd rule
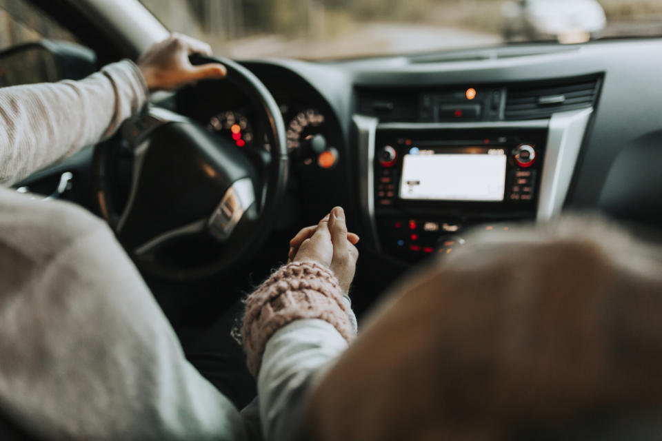
[[[271,336],[257,378],[265,440],[294,439],[312,383],[347,347],[335,327],[319,319],[296,320]]]

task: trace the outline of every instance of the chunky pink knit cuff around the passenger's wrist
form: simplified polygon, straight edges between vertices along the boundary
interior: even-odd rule
[[[329,322],[348,342],[354,336],[332,271],[313,262],[288,263],[246,299],[241,335],[248,370],[257,376],[262,353],[274,332],[305,318]]]

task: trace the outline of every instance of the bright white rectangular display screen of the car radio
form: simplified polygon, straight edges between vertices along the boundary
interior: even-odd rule
[[[473,150],[473,149],[472,149]],[[507,156],[421,150],[403,157],[400,198],[424,201],[503,201]]]

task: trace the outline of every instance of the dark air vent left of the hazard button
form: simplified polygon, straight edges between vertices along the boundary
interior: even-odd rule
[[[360,114],[377,116],[380,121],[417,121],[419,95],[412,91],[359,90]]]

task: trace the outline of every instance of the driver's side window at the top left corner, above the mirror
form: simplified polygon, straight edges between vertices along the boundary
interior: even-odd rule
[[[27,0],[0,0],[0,50],[44,38],[77,42],[71,32]]]

